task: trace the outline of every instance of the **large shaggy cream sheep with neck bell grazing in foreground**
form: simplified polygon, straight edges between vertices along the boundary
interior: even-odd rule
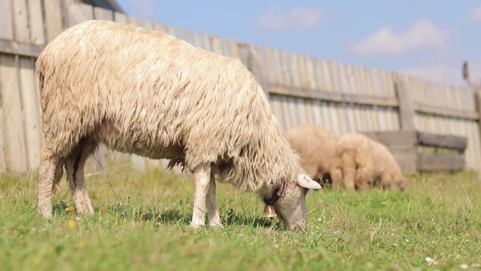
[[[65,30],[37,61],[42,132],[39,210],[65,165],[75,208],[93,213],[86,158],[102,143],[169,159],[194,175],[191,227],[222,227],[215,179],[255,191],[289,229],[306,227],[304,174],[262,88],[238,59],[195,48],[164,32],[108,21]]]

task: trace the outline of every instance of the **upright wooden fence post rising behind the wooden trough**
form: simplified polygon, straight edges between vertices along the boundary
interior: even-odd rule
[[[401,130],[416,130],[416,107],[414,106],[413,96],[406,87],[406,82],[395,81],[397,101],[399,101],[399,122]]]

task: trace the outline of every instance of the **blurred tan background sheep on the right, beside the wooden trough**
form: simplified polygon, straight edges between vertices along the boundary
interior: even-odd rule
[[[364,134],[345,134],[340,137],[335,168],[342,178],[333,179],[335,186],[364,190],[371,186],[404,190],[406,181],[392,153],[383,144]]]

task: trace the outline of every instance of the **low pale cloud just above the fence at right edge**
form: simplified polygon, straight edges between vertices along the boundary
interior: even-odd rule
[[[463,63],[458,65],[421,65],[401,70],[402,73],[434,82],[466,85],[462,76]],[[481,63],[469,63],[470,77],[473,84],[481,85]]]

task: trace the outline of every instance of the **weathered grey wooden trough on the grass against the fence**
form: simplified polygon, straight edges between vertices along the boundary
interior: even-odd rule
[[[406,174],[418,171],[463,170],[466,137],[417,130],[362,132],[384,144]]]

